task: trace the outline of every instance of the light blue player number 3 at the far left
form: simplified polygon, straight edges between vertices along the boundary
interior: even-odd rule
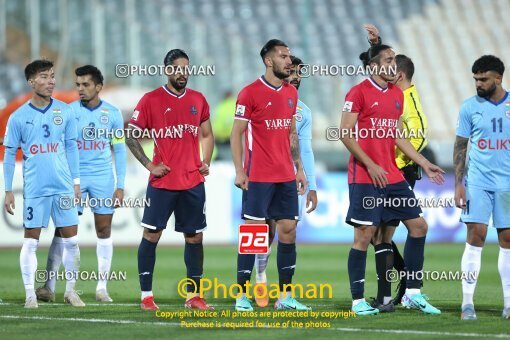
[[[79,269],[78,212],[73,197],[80,196],[76,118],[69,105],[51,97],[55,88],[53,63],[35,60],[25,68],[32,98],[14,111],[4,139],[5,210],[13,215],[12,181],[16,150],[23,152],[23,227],[20,254],[25,285],[25,308],[37,308],[34,289],[37,246],[41,229],[49,219],[62,235],[62,262],[66,272]],[[74,187],[73,187],[74,185]],[[64,301],[76,307],[85,304],[74,290],[76,275],[66,275]]]

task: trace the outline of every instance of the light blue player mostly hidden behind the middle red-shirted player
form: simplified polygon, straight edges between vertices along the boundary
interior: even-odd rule
[[[301,84],[301,77],[299,74],[299,65],[303,64],[303,61],[298,57],[291,56],[292,61],[290,76],[286,81],[299,89]],[[306,212],[311,213],[317,208],[317,182],[315,179],[315,158],[312,150],[312,111],[305,105],[301,100],[298,100],[296,108],[296,130],[299,139],[299,149],[301,154],[301,161],[305,170],[306,180],[308,182],[308,191],[305,195],[300,195],[299,199],[299,220],[303,218],[304,206],[308,209]],[[269,224],[269,244],[273,242],[276,224],[274,220],[267,220]],[[269,248],[271,250],[271,248]],[[267,284],[266,267],[269,258],[268,254],[257,254],[255,257],[255,268],[257,269],[257,294],[255,295],[255,301],[259,307],[265,307],[269,303],[268,290],[264,290],[261,285]],[[280,301],[277,301],[277,304]],[[276,305],[275,305],[276,306]]]

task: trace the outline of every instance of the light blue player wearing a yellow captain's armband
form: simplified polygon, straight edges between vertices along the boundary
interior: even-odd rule
[[[101,100],[99,92],[103,87],[101,71],[92,65],[85,65],[75,70],[76,88],[80,100],[70,104],[76,113],[78,127],[78,150],[80,154],[81,203],[78,213],[83,213],[83,203],[87,196],[94,213],[97,235],[98,274],[101,275],[96,287],[96,300],[112,302],[105,279],[111,268],[113,245],[111,239],[112,217],[114,207],[124,198],[124,178],[126,177],[126,144],[124,137],[115,132],[122,132],[124,119],[115,106]],[[111,133],[99,133],[99,129]],[[89,134],[88,132],[97,133]],[[121,138],[114,138],[115,136]],[[113,176],[112,149],[115,154],[115,173]],[[116,206],[115,206],[116,205]],[[48,254],[47,271],[57,272],[62,261],[62,238],[55,231]],[[37,289],[37,298],[53,301],[55,298],[55,278],[49,276],[44,287]]]

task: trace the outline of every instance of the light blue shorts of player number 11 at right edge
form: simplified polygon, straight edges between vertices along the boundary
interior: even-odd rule
[[[466,186],[466,209],[462,210],[460,221],[482,223],[495,228],[510,228],[510,191],[487,191]]]

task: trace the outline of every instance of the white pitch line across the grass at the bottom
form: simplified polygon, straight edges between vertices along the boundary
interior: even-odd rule
[[[180,326],[176,322],[143,322],[135,320],[109,320],[109,319],[84,319],[84,318],[55,318],[48,316],[20,316],[20,315],[0,315],[0,319],[25,319],[25,320],[48,320],[48,321],[73,321],[90,323],[110,323],[123,325],[148,325],[148,326]],[[304,328],[286,328],[286,330],[304,330]],[[458,337],[490,337],[490,338],[510,338],[508,334],[481,334],[481,333],[454,333],[454,332],[431,332],[414,331],[400,329],[366,329],[366,328],[322,328],[339,332],[369,332],[386,334],[412,334],[412,335],[438,335],[438,336],[458,336]]]

